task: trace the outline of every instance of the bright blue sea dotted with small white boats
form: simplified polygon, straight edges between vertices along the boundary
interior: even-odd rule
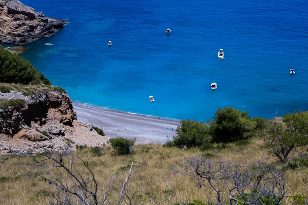
[[[307,0],[21,2],[67,21],[22,57],[74,102],[197,121],[308,110]]]

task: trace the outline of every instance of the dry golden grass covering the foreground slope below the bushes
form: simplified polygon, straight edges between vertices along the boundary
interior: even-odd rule
[[[101,147],[100,150],[82,147],[75,153],[88,162],[89,168],[95,175],[99,185],[99,204],[103,204],[104,196],[109,200],[109,204],[118,204],[121,188],[128,176],[131,162],[133,162],[132,173],[139,166],[141,166],[141,169],[130,177],[127,189],[125,189],[127,195],[123,195],[120,204],[130,204],[131,202],[131,204],[162,205],[191,202],[190,205],[204,205],[210,201],[213,203],[209,204],[216,204],[216,193],[208,183],[204,182],[204,186],[198,188],[197,176],[185,176],[174,172],[177,167],[176,162],[185,161],[185,157],[204,156],[214,163],[218,163],[220,160],[225,162],[229,160],[234,163],[237,162],[242,167],[251,165],[253,161],[265,161],[275,165],[277,169],[281,169],[277,160],[267,154],[268,148],[263,140],[258,138],[254,138],[247,145],[227,144],[224,148],[217,147],[210,150],[192,148],[185,151],[179,148],[164,148],[161,145],[150,144],[138,145],[134,148],[134,151],[135,154],[133,155],[119,156],[115,155],[110,147]],[[297,156],[298,153],[295,152],[293,156]],[[7,156],[0,156],[0,162],[5,157]],[[71,159],[70,154],[63,158],[66,165],[69,163],[69,158]],[[43,159],[43,156],[17,157],[0,165],[0,185],[3,187],[0,190],[2,204],[55,204],[56,199],[61,198],[55,185],[49,185],[48,181],[39,177],[32,178],[23,175],[25,172],[29,174],[28,163],[45,163]],[[84,174],[86,179],[89,180],[88,170],[76,156],[74,159],[76,172],[78,170],[78,173]],[[179,167],[177,168],[179,169]],[[32,168],[31,170],[32,173],[42,173],[42,171],[39,171],[40,168]],[[293,168],[287,169],[283,173],[286,181],[286,195],[289,196],[283,198],[283,204],[293,204],[292,195],[307,196],[307,169]],[[88,182],[91,185],[89,189],[93,190],[91,180]],[[70,185],[72,184],[70,183]],[[222,191],[223,199],[227,199],[227,186],[222,182],[219,188]],[[106,191],[105,194],[104,191]],[[74,198],[71,199],[75,200]],[[192,203],[193,200],[199,200],[203,203]]]

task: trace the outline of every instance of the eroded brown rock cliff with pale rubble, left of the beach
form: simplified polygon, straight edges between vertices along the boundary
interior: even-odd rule
[[[16,98],[25,103],[0,109],[0,154],[107,144],[108,138],[99,135],[91,124],[77,120],[72,100],[66,93],[37,92],[24,96],[16,91],[0,92],[0,100]]]

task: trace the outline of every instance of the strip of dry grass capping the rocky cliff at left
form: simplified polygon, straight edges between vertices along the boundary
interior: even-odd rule
[[[22,84],[9,84],[9,83],[0,83],[1,85],[7,87],[12,91],[22,92],[24,96],[29,96],[35,94],[36,91],[38,92],[47,92],[47,91],[59,91],[65,92],[60,87],[56,86],[48,86],[48,85],[22,85]]]

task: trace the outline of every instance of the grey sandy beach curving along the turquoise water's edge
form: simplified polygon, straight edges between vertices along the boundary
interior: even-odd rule
[[[78,120],[101,128],[107,137],[136,138],[136,144],[164,144],[176,135],[179,120],[72,103]],[[173,129],[173,130],[172,130]]]

